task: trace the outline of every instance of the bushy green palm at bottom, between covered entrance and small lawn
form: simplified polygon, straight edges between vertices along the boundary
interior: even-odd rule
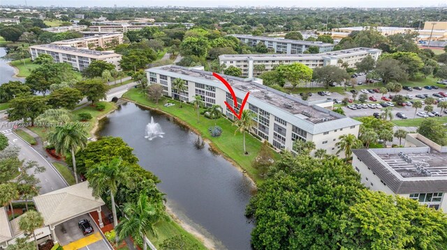
[[[169,217],[164,212],[164,206],[161,203],[151,203],[149,197],[140,194],[136,203],[126,203],[124,205],[124,214],[119,225],[116,227],[119,240],[126,237],[142,237],[142,248],[147,249],[145,238],[147,235],[156,236],[155,224],[159,221],[168,221]]]

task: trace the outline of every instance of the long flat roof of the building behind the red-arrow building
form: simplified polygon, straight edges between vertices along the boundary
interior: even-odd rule
[[[372,48],[365,48],[365,47],[358,47],[353,49],[343,49],[343,50],[337,50],[334,52],[323,52],[318,54],[223,54],[219,56],[219,58],[247,58],[247,57],[254,57],[254,58],[284,58],[284,59],[291,59],[291,58],[306,58],[309,60],[312,59],[319,59],[323,56],[329,56],[329,57],[346,57],[346,56],[353,56],[354,54],[364,54],[365,52],[381,52],[380,49],[372,49]]]

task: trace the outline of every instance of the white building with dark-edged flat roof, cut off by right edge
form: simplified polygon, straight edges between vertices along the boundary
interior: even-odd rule
[[[447,146],[407,134],[404,148],[353,150],[352,166],[369,189],[447,212]]]

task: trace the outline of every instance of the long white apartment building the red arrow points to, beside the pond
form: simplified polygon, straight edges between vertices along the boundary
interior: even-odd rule
[[[164,95],[193,101],[200,95],[205,107],[219,104],[223,107],[223,114],[234,119],[225,102],[233,105],[233,97],[226,86],[213,77],[212,72],[167,65],[146,70],[149,84],[161,84]],[[358,135],[360,122],[337,114],[324,108],[323,102],[306,102],[281,91],[274,90],[261,84],[261,79],[244,79],[222,75],[232,86],[237,97],[237,108],[247,92],[249,98],[244,109],[256,114],[256,126],[252,131],[256,136],[267,140],[277,150],[293,150],[293,141],[313,141],[316,149],[323,148],[329,154],[337,155],[339,148],[335,143],[342,134]],[[175,79],[183,79],[187,90],[178,93],[173,88]],[[326,102],[327,103],[327,102]],[[332,102],[330,102],[332,107]]]

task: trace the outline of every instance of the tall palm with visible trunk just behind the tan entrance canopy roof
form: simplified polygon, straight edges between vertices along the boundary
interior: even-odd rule
[[[75,153],[78,148],[83,149],[87,146],[87,132],[83,127],[77,125],[64,125],[54,127],[48,134],[48,142],[54,146],[58,154],[71,153],[71,162],[75,172],[75,180],[78,183],[78,173],[76,173]]]

